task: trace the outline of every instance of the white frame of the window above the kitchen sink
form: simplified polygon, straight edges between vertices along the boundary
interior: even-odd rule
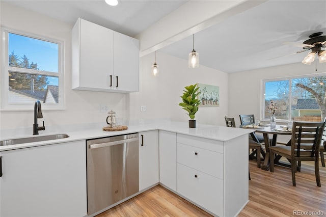
[[[18,67],[9,66],[9,33],[22,35],[26,37],[31,37],[39,39],[42,41],[48,41],[51,43],[58,44],[58,72],[49,72],[41,71],[34,69],[25,69]],[[37,74],[37,75],[46,75],[46,76],[55,76],[58,77],[59,82],[59,102],[58,103],[42,103],[42,110],[64,110],[65,109],[65,97],[64,97],[64,41],[48,38],[41,35],[36,35],[32,33],[27,33],[23,31],[17,31],[9,28],[1,28],[2,35],[2,46],[1,46],[1,111],[33,111],[34,103],[9,103],[9,71],[25,73],[25,74]]]

